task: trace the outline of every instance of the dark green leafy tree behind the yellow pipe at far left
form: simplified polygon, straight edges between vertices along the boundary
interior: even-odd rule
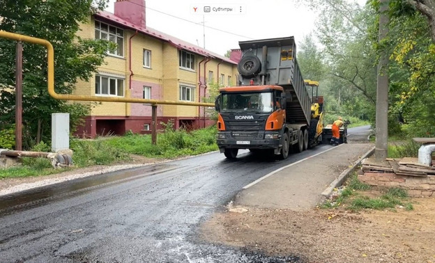
[[[89,22],[107,0],[0,0],[0,30],[43,38],[54,47],[56,93],[72,93],[78,79],[89,80],[104,61],[107,41],[77,37],[79,24]],[[51,113],[70,109],[66,102],[47,93],[47,51],[40,45],[23,44],[23,146],[49,138]],[[0,39],[0,86],[15,86],[15,42]],[[10,126],[15,115],[15,95],[3,90],[0,97],[0,129]],[[77,105],[75,109],[81,107]],[[89,106],[83,106],[86,113]]]

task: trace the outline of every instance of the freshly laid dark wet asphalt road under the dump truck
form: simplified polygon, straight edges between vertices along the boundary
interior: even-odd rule
[[[198,226],[243,186],[330,147],[284,161],[214,152],[5,196],[0,262],[297,261],[206,244]]]

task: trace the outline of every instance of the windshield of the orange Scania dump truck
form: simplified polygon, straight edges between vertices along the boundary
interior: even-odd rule
[[[221,113],[248,111],[252,113],[271,113],[273,111],[272,93],[224,93],[222,94]]]

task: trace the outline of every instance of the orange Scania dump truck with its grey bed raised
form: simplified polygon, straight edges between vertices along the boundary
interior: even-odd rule
[[[320,143],[323,97],[308,93],[294,38],[239,45],[238,86],[220,88],[215,101],[220,152],[234,159],[239,149],[249,149],[286,159],[291,150],[302,152]]]

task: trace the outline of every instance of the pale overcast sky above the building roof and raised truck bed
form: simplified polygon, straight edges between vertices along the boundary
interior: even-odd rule
[[[114,12],[114,2],[107,11]],[[206,6],[210,13],[204,13]],[[220,55],[237,49],[238,41],[293,35],[298,43],[314,29],[315,19],[292,0],[146,0],[146,26],[200,47],[205,33],[206,49]]]

